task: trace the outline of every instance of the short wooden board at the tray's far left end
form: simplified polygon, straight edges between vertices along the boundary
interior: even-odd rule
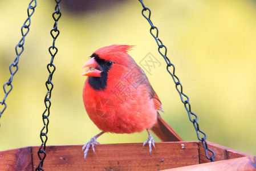
[[[32,171],[31,146],[0,152],[0,170]]]

